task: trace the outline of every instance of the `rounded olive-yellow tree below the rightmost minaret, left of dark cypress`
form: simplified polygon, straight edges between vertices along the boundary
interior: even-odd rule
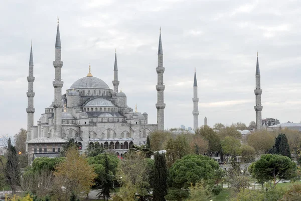
[[[274,138],[267,131],[256,131],[247,136],[247,143],[255,149],[256,155],[260,156],[273,146]]]

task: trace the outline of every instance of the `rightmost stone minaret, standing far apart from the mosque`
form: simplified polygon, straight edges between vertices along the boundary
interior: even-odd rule
[[[258,52],[257,52],[257,63],[256,63],[256,88],[254,89],[255,93],[255,103],[256,105],[254,106],[255,112],[256,112],[256,130],[261,130],[262,129],[262,119],[261,119],[261,111],[262,111],[262,106],[261,106],[261,93],[262,89],[260,88],[260,70],[259,70],[259,62],[258,62]]]

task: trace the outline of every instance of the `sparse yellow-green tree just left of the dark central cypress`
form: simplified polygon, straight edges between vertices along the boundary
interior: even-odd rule
[[[129,152],[126,160],[120,161],[117,179],[121,183],[120,193],[124,200],[140,200],[150,196],[149,173],[154,168],[154,160],[145,158],[141,152]]]

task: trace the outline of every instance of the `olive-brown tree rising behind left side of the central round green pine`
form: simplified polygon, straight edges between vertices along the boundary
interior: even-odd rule
[[[166,161],[167,166],[171,167],[176,160],[189,154],[189,145],[184,135],[179,135],[177,138],[170,139],[166,146]]]

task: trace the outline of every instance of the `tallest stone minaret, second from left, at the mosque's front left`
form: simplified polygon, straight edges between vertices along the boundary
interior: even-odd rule
[[[55,69],[54,81],[52,82],[54,87],[54,132],[55,137],[62,136],[62,86],[64,82],[62,81],[62,67],[63,61],[61,61],[61,38],[60,38],[60,28],[59,19],[57,27],[57,35],[55,41],[55,61],[53,62]]]

